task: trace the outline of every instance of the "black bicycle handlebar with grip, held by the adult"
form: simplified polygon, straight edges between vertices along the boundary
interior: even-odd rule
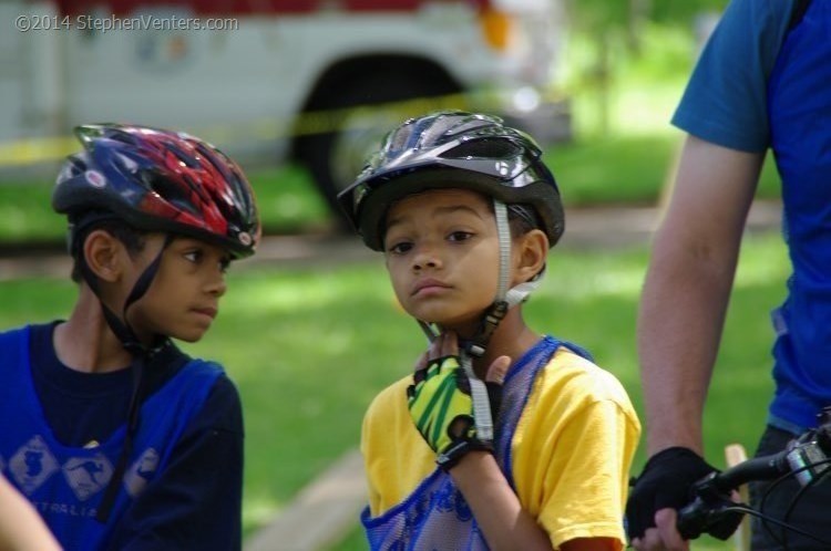
[[[770,456],[742,461],[724,471],[714,471],[693,486],[693,502],[678,511],[676,529],[685,540],[702,533],[726,540],[736,530],[741,514],[749,510],[736,503],[730,493],[740,486],[793,475],[807,486],[828,469],[831,461],[831,408],[820,414],[820,426],[808,430],[788,448]]]

